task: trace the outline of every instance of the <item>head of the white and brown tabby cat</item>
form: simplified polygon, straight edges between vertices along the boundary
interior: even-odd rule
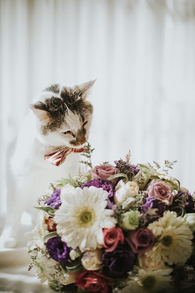
[[[74,87],[53,84],[30,108],[37,118],[39,139],[48,146],[81,148],[88,140],[93,106],[86,100],[95,83]]]

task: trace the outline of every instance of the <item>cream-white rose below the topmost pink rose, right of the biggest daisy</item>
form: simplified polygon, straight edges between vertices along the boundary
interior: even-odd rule
[[[129,181],[124,183],[120,180],[115,188],[116,192],[114,194],[115,204],[122,204],[129,197],[134,197],[139,192],[139,187],[136,182]]]

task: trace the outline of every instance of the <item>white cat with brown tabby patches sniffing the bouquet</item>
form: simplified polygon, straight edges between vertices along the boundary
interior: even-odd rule
[[[45,155],[60,149],[79,151],[89,137],[93,106],[87,95],[95,80],[74,87],[53,84],[43,90],[38,101],[30,105],[10,160],[8,199],[9,224],[3,246],[17,246],[20,218],[27,211],[35,220],[39,196],[49,184],[78,173],[80,154],[71,152],[59,166],[45,160]]]

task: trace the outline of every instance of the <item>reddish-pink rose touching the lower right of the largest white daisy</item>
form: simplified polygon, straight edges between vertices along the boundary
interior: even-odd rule
[[[106,252],[114,251],[118,243],[124,244],[124,235],[120,228],[103,230],[103,247]]]

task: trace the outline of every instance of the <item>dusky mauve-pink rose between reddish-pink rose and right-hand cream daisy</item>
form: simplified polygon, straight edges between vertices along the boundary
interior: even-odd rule
[[[155,244],[155,236],[147,228],[141,228],[136,232],[131,232],[129,238],[125,239],[129,243],[132,251],[139,256],[152,249]]]

